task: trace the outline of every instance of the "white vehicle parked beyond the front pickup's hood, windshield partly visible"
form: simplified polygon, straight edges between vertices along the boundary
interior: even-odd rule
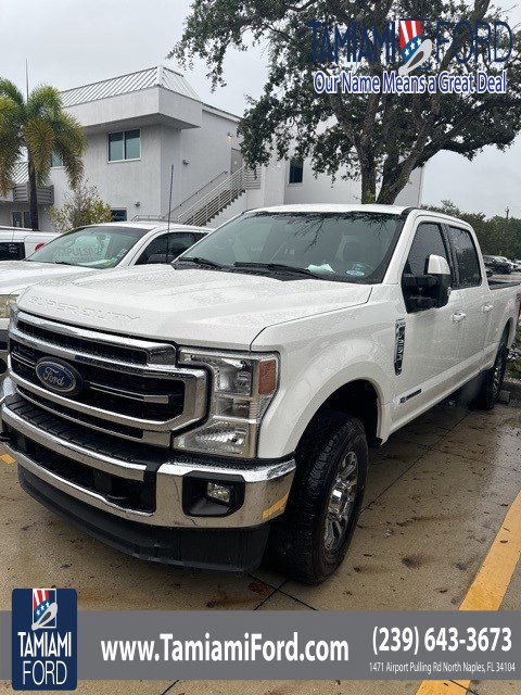
[[[7,371],[10,308],[25,288],[49,278],[92,274],[116,266],[171,263],[208,231],[178,224],[171,224],[168,231],[165,223],[129,222],[91,225],[64,235],[31,232],[17,241],[31,255],[23,261],[0,263],[0,381]],[[23,232],[20,235],[22,239]],[[35,235],[41,245],[37,250]],[[43,245],[43,240],[49,243]]]

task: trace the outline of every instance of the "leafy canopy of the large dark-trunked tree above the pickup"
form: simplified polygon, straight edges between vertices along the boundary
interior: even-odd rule
[[[427,9],[428,8],[428,9]],[[507,20],[491,0],[434,0],[428,5],[409,0],[193,0],[181,40],[169,56],[190,65],[203,59],[214,87],[225,84],[224,60],[228,48],[247,50],[252,42],[267,46],[268,78],[264,93],[250,100],[241,124],[247,164],[265,164],[271,149],[282,157],[296,148],[312,157],[315,172],[333,178],[361,179],[363,202],[392,203],[412,170],[442,150],[471,160],[487,144],[505,149],[521,128],[521,34],[507,64],[488,64],[497,75],[505,67],[507,94],[317,94],[313,73],[352,70],[350,64],[312,62],[312,29],[307,23],[346,25],[356,20],[383,29],[387,18],[427,16],[471,23]],[[432,38],[428,36],[427,38]],[[433,71],[467,75],[474,64],[454,60],[456,50],[467,53],[468,37],[459,34]],[[480,47],[480,64],[486,61]],[[381,76],[382,56],[356,66],[358,75]],[[379,189],[379,190],[377,190]]]

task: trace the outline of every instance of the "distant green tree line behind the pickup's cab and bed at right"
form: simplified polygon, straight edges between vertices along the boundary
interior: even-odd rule
[[[486,219],[483,213],[462,212],[449,200],[443,200],[437,207],[431,205],[429,210],[460,217],[472,225],[483,253],[521,258],[521,219],[499,215]]]

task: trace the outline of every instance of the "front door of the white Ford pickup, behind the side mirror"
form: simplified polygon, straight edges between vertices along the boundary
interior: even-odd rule
[[[404,274],[425,275],[431,254],[447,261],[454,280],[454,264],[442,225],[419,222]],[[459,290],[452,290],[445,306],[422,311],[407,311],[404,295],[404,318],[398,319],[404,338],[403,358],[401,369],[395,365],[393,429],[450,392],[458,369],[462,313]],[[397,332],[398,328],[397,324]]]

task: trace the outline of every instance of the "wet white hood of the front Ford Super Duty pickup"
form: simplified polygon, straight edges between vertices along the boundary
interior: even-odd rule
[[[247,350],[268,326],[364,304],[370,293],[346,282],[156,265],[47,281],[18,306],[98,330]]]

